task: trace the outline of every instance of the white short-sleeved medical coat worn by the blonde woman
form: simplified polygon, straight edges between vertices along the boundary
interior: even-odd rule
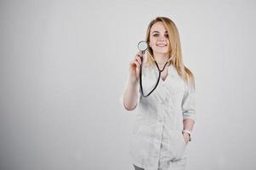
[[[143,68],[144,94],[156,83],[156,67]],[[145,170],[185,169],[183,120],[196,120],[195,89],[184,82],[174,67],[168,66],[168,77],[147,98],[139,93],[136,122],[129,144],[134,165]]]

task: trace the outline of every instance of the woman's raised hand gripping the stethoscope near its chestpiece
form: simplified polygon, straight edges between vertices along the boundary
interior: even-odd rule
[[[140,57],[142,56],[142,53],[139,51],[135,55],[135,59],[131,61],[130,63],[130,80],[132,82],[138,82],[139,81],[139,68],[142,63]]]

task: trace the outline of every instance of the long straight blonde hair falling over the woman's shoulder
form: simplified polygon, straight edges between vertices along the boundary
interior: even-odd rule
[[[168,31],[168,39],[170,42],[169,56],[173,56],[173,59],[169,61],[168,65],[173,64],[176,70],[178,71],[179,77],[181,77],[187,83],[191,82],[192,87],[195,88],[195,80],[193,73],[187,67],[185,67],[183,63],[179,31],[177,29],[177,26],[175,26],[173,20],[170,20],[167,17],[156,17],[156,19],[151,21],[147,28],[145,41],[150,42],[151,27],[156,22],[162,22],[166,30]],[[147,64],[152,65],[154,62],[152,48],[148,48],[148,50],[146,51],[146,55]]]

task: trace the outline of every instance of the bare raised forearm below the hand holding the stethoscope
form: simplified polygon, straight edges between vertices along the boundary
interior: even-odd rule
[[[138,82],[129,81],[128,87],[123,95],[123,106],[126,110],[132,111],[136,108],[138,100]]]

